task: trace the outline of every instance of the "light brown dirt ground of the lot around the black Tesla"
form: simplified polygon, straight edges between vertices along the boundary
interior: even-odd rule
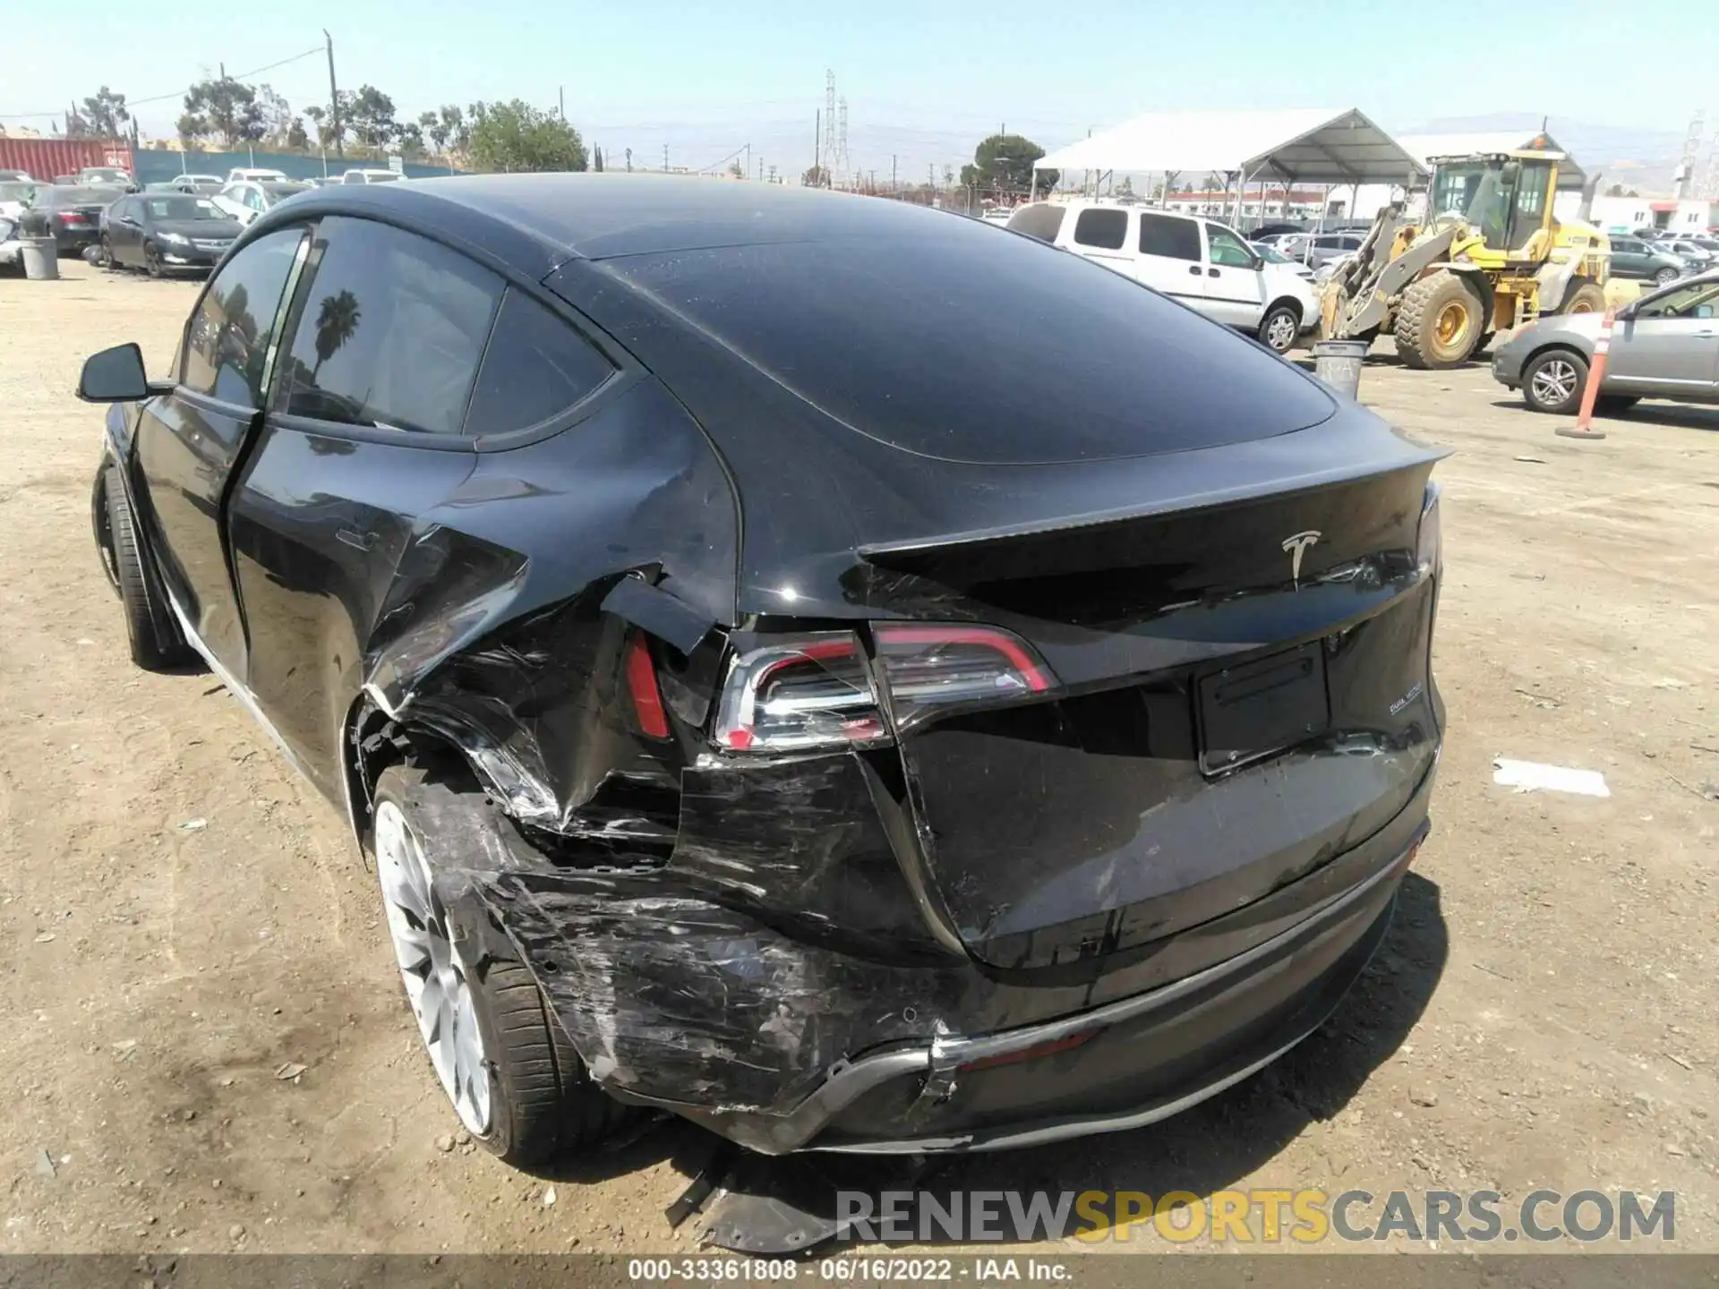
[[[127,662],[72,387],[120,340],[165,368],[196,287],[64,275],[0,278],[0,1251],[689,1249],[693,1129],[560,1179],[452,1136],[337,813],[210,677]],[[1449,734],[1386,950],[1203,1107],[939,1184],[1674,1189],[1678,1246],[1719,1249],[1719,409],[1578,443],[1483,366],[1389,351],[1361,392],[1454,449]],[[1611,797],[1497,787],[1494,756]]]

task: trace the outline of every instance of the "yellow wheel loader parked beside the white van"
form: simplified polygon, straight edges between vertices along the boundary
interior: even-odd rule
[[[1427,217],[1386,206],[1325,282],[1322,339],[1389,332],[1406,366],[1454,368],[1494,332],[1606,308],[1611,242],[1554,218],[1559,165],[1569,158],[1549,150],[1432,158]]]

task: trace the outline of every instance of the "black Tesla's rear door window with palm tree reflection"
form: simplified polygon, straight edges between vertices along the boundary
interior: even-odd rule
[[[459,435],[502,280],[370,220],[325,220],[277,406],[337,425]]]

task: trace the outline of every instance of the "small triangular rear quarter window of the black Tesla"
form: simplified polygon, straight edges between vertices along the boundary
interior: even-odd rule
[[[529,296],[509,290],[478,370],[466,433],[502,435],[547,421],[614,373],[590,340]]]

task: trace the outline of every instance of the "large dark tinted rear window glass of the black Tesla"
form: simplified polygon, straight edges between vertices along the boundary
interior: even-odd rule
[[[1179,452],[1286,433],[1336,407],[1260,345],[1138,282],[976,225],[627,256],[598,270],[847,428],[947,461]],[[629,344],[650,364],[657,339],[670,344],[650,328]]]

